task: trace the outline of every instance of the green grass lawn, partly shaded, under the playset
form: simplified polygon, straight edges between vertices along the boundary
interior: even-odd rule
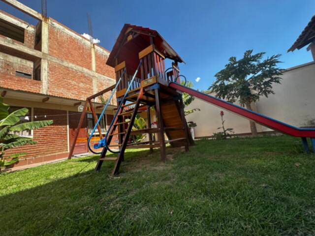
[[[315,235],[315,155],[299,139],[129,150],[0,175],[0,235]]]

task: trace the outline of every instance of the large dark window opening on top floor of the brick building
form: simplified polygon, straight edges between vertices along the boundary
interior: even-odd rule
[[[24,43],[25,29],[0,19],[0,34]]]

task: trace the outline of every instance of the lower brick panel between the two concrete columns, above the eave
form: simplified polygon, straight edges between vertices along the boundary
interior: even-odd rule
[[[50,95],[85,100],[93,94],[92,77],[85,73],[49,62],[48,77]]]

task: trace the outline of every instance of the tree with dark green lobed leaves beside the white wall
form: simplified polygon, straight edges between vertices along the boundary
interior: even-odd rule
[[[268,97],[275,94],[273,84],[281,84],[283,69],[277,66],[281,55],[273,55],[263,59],[266,53],[252,54],[252,50],[244,53],[242,59],[231,57],[225,68],[219,71],[216,81],[209,89],[216,93],[216,97],[234,103],[239,99],[241,106],[252,110],[252,102],[260,96]],[[250,121],[252,135],[257,135],[255,122]]]

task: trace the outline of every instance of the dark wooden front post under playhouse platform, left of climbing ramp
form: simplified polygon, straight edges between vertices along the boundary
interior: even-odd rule
[[[161,102],[159,97],[159,89],[155,89],[156,104],[157,104],[157,118],[158,118],[158,142],[161,153],[161,160],[166,161],[165,139],[164,139],[164,126],[161,111]]]

